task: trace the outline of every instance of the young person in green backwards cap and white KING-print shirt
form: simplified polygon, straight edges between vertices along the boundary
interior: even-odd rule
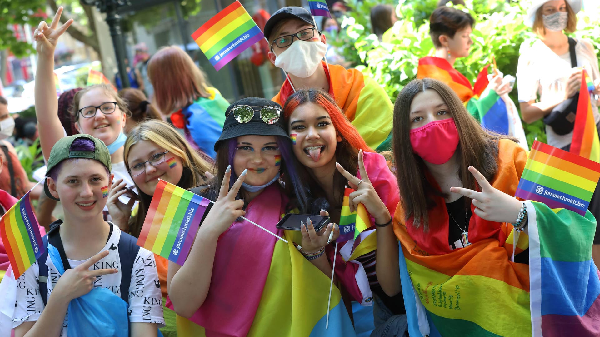
[[[164,325],[154,255],[103,219],[111,166],[87,134],[53,146],[44,192],[61,200],[64,221],[50,225],[33,266],[2,280],[15,336],[157,336]]]

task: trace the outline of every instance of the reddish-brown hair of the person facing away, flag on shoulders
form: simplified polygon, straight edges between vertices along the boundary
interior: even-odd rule
[[[166,46],[148,61],[154,100],[163,115],[182,109],[200,97],[209,97],[206,76],[184,50]]]

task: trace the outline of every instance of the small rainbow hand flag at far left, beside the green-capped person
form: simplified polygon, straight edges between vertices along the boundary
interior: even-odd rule
[[[6,248],[14,279],[46,252],[41,241],[40,227],[29,202],[29,193],[0,218],[0,237]]]

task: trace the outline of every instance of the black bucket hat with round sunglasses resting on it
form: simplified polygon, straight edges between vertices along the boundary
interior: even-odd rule
[[[254,110],[254,116],[247,123],[236,121],[235,116],[231,113],[233,107],[250,106]],[[260,118],[260,109],[262,107],[274,106],[280,109],[280,116],[277,122],[268,124]],[[225,112],[225,123],[223,124],[223,133],[215,143],[215,151],[218,151],[221,142],[227,139],[236,138],[239,136],[257,135],[257,136],[283,136],[289,139],[286,125],[283,122],[283,109],[274,101],[266,98],[247,97],[235,101]]]

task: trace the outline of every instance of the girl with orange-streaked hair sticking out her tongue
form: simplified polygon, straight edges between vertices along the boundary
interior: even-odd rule
[[[391,214],[400,201],[394,174],[385,157],[367,146],[334,99],[322,89],[298,90],[286,101],[283,113],[292,150],[312,178],[308,181],[310,191],[314,197],[329,201],[332,221],[339,222],[342,215],[347,215],[342,204],[344,186],[348,185],[354,189],[348,196],[350,212],[362,203],[370,213],[371,224],[382,227],[391,224]],[[362,231],[356,240],[343,242],[344,234],[353,239],[355,230],[352,225],[340,224],[340,253],[347,262],[338,259],[340,264],[335,266],[335,272],[352,300],[362,305],[374,303],[374,336],[379,336],[381,333],[377,331],[383,333],[392,325],[394,330],[405,326],[402,295],[394,298],[383,293],[375,273],[376,252],[373,248],[365,249],[366,253],[356,258],[345,252],[359,241],[356,249],[351,250],[361,251],[361,245],[375,238],[368,235],[374,228],[371,226]],[[354,275],[354,278],[347,275]]]

